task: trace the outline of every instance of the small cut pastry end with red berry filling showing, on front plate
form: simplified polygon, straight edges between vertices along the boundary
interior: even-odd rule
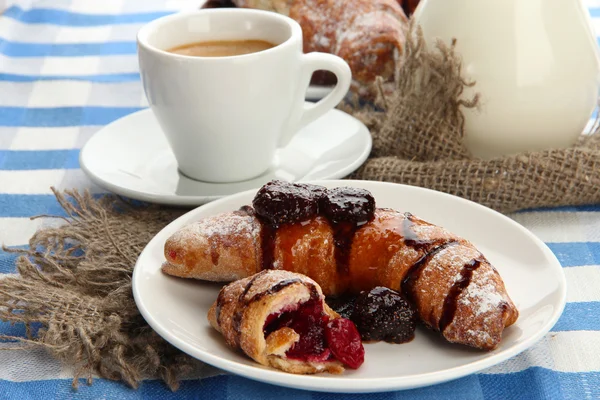
[[[317,283],[301,274],[265,270],[230,283],[208,320],[228,345],[286,372],[339,374],[364,361],[354,324],[331,310]]]

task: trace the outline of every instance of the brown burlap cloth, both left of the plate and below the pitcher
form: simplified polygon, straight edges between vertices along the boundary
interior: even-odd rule
[[[462,145],[461,108],[475,107],[477,98],[461,99],[467,83],[453,45],[427,49],[419,35],[410,37],[396,92],[380,94],[375,108],[343,107],[373,134],[372,154],[352,178],[433,188],[502,212],[600,200],[600,134],[582,135],[566,150],[472,159]],[[133,206],[112,195],[56,196],[65,223],[38,231],[29,250],[5,249],[23,254],[19,274],[0,280],[0,319],[24,323],[29,338],[4,339],[43,346],[72,365],[74,386],[97,374],[133,387],[159,377],[176,389],[185,376],[214,373],[150,329],[131,293],[138,254],[184,210]]]

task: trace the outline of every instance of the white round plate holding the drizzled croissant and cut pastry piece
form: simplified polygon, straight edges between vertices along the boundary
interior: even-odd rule
[[[250,379],[293,388],[330,392],[376,392],[416,388],[460,378],[498,364],[532,346],[555,324],[565,305],[562,268],[550,249],[510,218],[473,202],[432,190],[367,181],[326,181],[325,186],[370,190],[379,207],[410,211],[471,240],[501,274],[519,309],[499,348],[482,352],[445,342],[419,327],[407,344],[365,344],[365,363],[336,375],[293,375],[262,367],[225,345],[207,319],[219,286],[164,275],[165,240],[203,217],[249,204],[255,191],[199,207],[154,237],[133,273],[135,301],[150,326],[184,352]]]

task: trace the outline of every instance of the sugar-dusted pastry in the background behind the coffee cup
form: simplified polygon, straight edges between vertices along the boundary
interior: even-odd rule
[[[352,70],[352,90],[368,96],[378,76],[386,91],[396,79],[408,19],[397,0],[232,0],[238,7],[288,15],[302,27],[304,52],[340,56]],[[333,80],[332,80],[333,79]],[[317,84],[335,77],[316,74]]]

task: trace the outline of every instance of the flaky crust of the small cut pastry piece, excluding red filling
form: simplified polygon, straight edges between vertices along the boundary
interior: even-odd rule
[[[312,279],[288,271],[266,270],[225,286],[208,312],[208,321],[256,362],[294,374],[344,371],[339,361],[311,362],[288,359],[285,352],[299,339],[290,328],[265,338],[263,328],[270,314],[297,307],[317,298],[330,318],[339,318],[325,303],[323,292]],[[291,332],[290,332],[291,331]]]

